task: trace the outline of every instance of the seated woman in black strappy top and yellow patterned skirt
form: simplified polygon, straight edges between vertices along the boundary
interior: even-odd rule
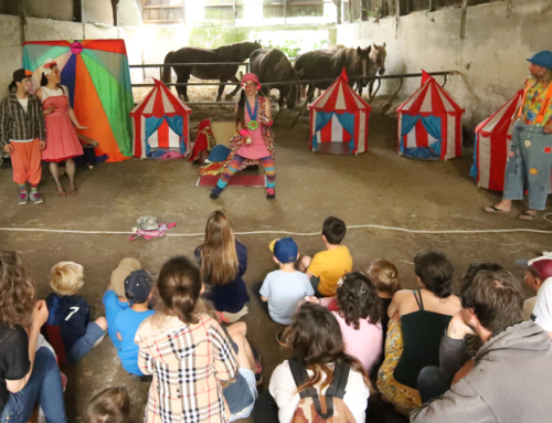
[[[461,308],[450,290],[453,265],[444,254],[417,253],[414,271],[418,289],[399,290],[389,306],[385,360],[378,372],[383,399],[403,414],[421,405],[420,371],[426,366],[439,366],[440,338]]]

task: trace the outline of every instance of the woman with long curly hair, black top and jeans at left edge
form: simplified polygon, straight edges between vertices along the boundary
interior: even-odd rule
[[[26,423],[34,405],[47,423],[65,423],[60,369],[41,347],[47,307],[36,300],[29,263],[14,251],[0,252],[0,421]]]

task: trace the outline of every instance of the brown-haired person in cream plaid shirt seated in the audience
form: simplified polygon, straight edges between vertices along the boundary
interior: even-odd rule
[[[138,366],[152,374],[147,423],[226,423],[222,381],[234,379],[237,359],[209,315],[200,271],[184,256],[169,260],[157,283],[157,313],[139,327]]]

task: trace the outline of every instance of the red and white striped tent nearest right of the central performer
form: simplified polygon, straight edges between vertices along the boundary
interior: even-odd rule
[[[349,86],[344,67],[309,108],[311,150],[319,150],[321,142],[347,144],[351,155],[368,150],[368,119],[372,108]]]

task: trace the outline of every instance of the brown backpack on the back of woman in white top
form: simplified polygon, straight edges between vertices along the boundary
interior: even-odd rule
[[[298,359],[289,360],[289,368],[297,388],[309,379],[307,369]],[[316,388],[308,388],[299,392],[300,401],[291,423],[357,423],[343,402],[349,370],[348,366],[336,366],[333,381],[326,390],[325,395],[319,395]]]

